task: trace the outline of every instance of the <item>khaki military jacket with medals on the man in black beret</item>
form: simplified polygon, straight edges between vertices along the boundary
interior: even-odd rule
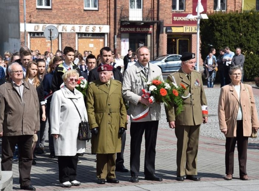
[[[167,77],[167,79],[173,81],[172,76],[176,80],[177,85],[182,83],[187,88],[185,95],[188,93],[191,95],[183,101],[183,111],[175,116],[173,107],[166,111],[167,121],[175,121],[176,125],[199,125],[203,123],[203,117],[208,115],[202,114],[202,106],[207,106],[207,100],[202,85],[202,75],[198,71],[194,70],[191,72],[191,82],[186,77],[185,73],[180,69]]]

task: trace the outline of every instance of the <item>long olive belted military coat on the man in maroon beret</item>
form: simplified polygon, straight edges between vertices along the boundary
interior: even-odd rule
[[[88,84],[88,121],[90,129],[98,127],[97,136],[92,136],[92,153],[121,152],[119,127],[127,127],[127,113],[121,89],[122,83],[113,79],[109,89],[100,80]]]

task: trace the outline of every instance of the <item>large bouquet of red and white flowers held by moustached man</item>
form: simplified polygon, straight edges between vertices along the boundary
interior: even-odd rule
[[[159,77],[147,83],[147,89],[143,91],[143,97],[148,98],[150,102],[164,103],[167,109],[171,108],[171,102],[177,106],[175,114],[178,115],[183,109],[183,99],[186,87],[183,84],[177,85],[169,80],[162,81]]]

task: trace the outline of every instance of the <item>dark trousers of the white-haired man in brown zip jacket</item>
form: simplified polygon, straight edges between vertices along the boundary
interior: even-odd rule
[[[12,171],[12,157],[15,145],[19,148],[19,183],[20,186],[31,184],[33,135],[2,137],[2,171]]]

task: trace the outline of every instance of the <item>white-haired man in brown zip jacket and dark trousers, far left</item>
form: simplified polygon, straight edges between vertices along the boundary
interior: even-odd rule
[[[39,99],[36,88],[24,82],[22,66],[8,68],[10,82],[0,86],[0,137],[2,137],[2,171],[12,170],[15,145],[19,147],[20,188],[36,190],[31,185],[33,134],[40,130]]]

